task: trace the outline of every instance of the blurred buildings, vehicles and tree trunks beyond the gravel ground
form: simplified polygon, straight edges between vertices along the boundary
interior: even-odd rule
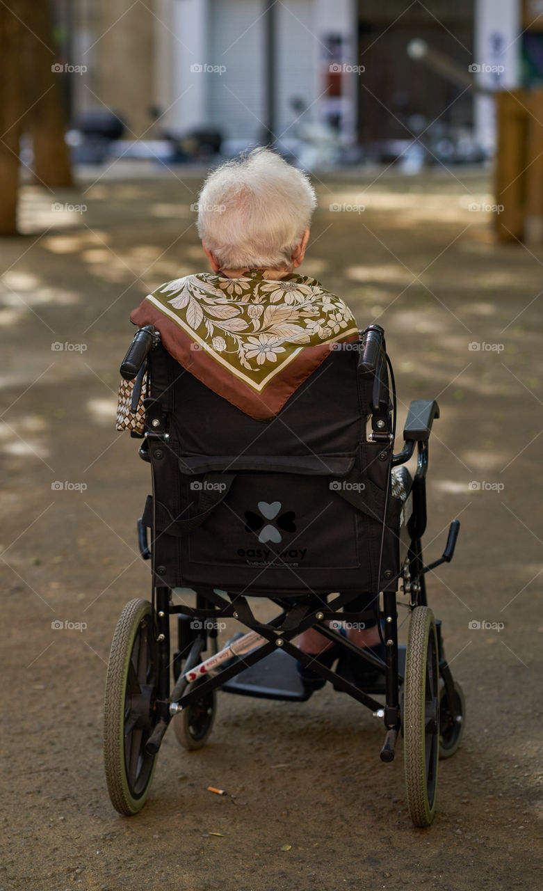
[[[2,20],[1,232],[20,162],[69,185],[271,144],[310,171],[497,159],[498,236],[543,237],[540,0],[10,0]]]

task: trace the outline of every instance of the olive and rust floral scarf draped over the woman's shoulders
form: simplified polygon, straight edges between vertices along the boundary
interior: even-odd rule
[[[308,276],[187,275],[149,294],[130,316],[153,324],[167,351],[241,411],[267,421],[339,341],[358,339],[343,300]]]

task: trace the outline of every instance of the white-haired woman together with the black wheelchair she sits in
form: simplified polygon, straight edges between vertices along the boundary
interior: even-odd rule
[[[152,593],[126,605],[109,657],[104,753],[119,813],[142,808],[171,721],[185,748],[204,745],[219,690],[304,701],[330,682],[369,707],[385,723],[384,762],[403,735],[416,826],[434,818],[439,757],[458,748],[464,699],[425,591],[458,521],[439,560],[425,565],[421,546],[439,409],[411,403],[394,454],[385,332],[359,331],[340,298],[294,271],[315,203],[269,150],[217,168],[199,196],[212,272],[166,282],[131,315],[118,429],[150,462],[138,535]],[[255,617],[259,598],[278,608],[271,621]],[[219,649],[229,617],[248,630]]]

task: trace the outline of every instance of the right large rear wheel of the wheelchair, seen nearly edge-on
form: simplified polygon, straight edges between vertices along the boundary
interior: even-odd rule
[[[403,748],[411,820],[434,820],[440,742],[439,657],[434,614],[428,607],[411,613],[405,658]]]

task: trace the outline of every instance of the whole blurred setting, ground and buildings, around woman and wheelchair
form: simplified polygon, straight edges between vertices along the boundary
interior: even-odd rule
[[[542,0],[0,2],[0,886],[539,888],[542,96]],[[427,560],[462,527],[428,597],[467,723],[422,834],[401,747],[381,764],[329,685],[221,696],[201,752],[166,735],[140,815],[109,805],[109,645],[150,590],[149,469],[115,430],[128,316],[207,270],[201,184],[256,144],[312,177],[300,271],[384,326],[398,430],[441,408]]]

